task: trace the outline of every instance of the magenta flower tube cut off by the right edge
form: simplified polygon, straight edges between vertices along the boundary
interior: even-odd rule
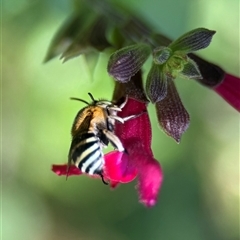
[[[240,79],[226,74],[223,82],[214,89],[236,110],[240,111]]]

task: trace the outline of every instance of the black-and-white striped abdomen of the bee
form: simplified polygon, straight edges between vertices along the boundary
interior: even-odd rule
[[[81,134],[72,141],[69,158],[82,172],[100,174],[104,159],[99,139],[92,132]]]

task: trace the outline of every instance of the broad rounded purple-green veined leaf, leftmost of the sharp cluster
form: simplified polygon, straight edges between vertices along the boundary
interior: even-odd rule
[[[141,69],[150,53],[150,46],[144,43],[124,47],[110,56],[108,73],[119,82],[128,82]]]

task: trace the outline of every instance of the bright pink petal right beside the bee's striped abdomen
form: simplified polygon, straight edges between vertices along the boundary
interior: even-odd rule
[[[104,158],[104,177],[112,182],[112,187],[116,186],[114,182],[128,183],[137,176],[137,169],[130,165],[127,154],[112,151],[107,153]]]

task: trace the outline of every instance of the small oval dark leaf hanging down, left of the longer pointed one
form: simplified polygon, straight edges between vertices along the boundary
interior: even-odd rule
[[[167,95],[167,75],[162,71],[161,66],[153,64],[147,76],[146,92],[152,103],[161,101]]]

